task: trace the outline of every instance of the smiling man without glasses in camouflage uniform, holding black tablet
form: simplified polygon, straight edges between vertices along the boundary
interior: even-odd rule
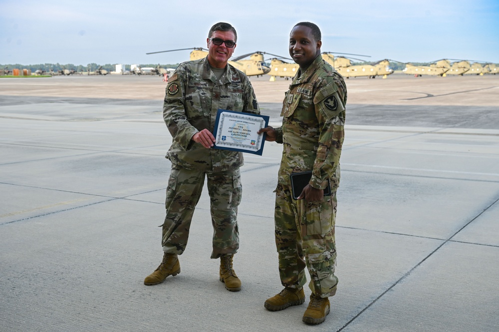
[[[336,190],[344,138],[347,90],[343,77],[321,56],[321,31],[310,22],[291,30],[289,54],[300,68],[283,102],[282,126],[266,127],[267,140],[283,143],[276,191],[275,239],[284,290],[265,301],[270,311],[305,301],[305,267],[312,280],[310,303],[303,322],[320,324],[335,295]],[[299,197],[292,197],[291,173],[312,171]],[[329,185],[331,195],[324,196]]]

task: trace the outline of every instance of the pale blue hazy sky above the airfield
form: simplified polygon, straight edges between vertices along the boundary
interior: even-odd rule
[[[190,51],[146,53],[206,48],[219,21],[237,30],[233,56],[289,57],[289,32],[310,21],[338,55],[499,63],[499,0],[0,0],[0,64],[174,64]]]

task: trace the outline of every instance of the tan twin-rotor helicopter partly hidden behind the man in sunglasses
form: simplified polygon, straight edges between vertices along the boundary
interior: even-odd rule
[[[191,47],[191,48],[180,48],[180,49],[171,49],[166,51],[159,52],[149,52],[146,54],[154,54],[154,53],[164,53],[164,52],[173,52],[173,51],[182,51],[186,49],[192,49],[190,53],[191,60],[197,60],[205,58],[208,55],[208,50],[202,47]],[[265,75],[270,71],[270,68],[263,61],[263,54],[265,52],[254,52],[248,53],[244,55],[240,55],[238,57],[231,58],[228,63],[241,70],[246,76],[260,76]],[[249,59],[244,59],[249,56]]]

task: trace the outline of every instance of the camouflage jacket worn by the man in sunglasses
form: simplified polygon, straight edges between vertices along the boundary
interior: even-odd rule
[[[203,171],[242,166],[241,152],[207,149],[191,140],[203,129],[213,133],[219,108],[260,114],[248,77],[227,64],[217,80],[207,58],[181,63],[168,80],[163,103],[163,118],[173,137],[166,158],[181,167]]]

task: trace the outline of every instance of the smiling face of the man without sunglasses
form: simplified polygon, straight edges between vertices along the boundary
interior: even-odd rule
[[[297,25],[289,34],[289,55],[306,69],[321,52],[322,41],[314,39],[312,29],[308,26]]]

